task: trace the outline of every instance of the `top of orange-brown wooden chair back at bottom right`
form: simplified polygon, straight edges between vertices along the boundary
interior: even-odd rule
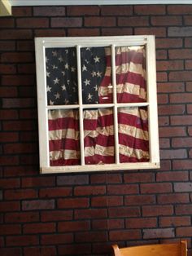
[[[174,244],[139,245],[119,248],[112,245],[115,256],[187,256],[187,243],[180,241]]]

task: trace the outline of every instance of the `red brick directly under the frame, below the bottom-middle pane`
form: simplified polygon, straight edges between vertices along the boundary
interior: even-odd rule
[[[121,174],[91,174],[90,183],[122,183]]]

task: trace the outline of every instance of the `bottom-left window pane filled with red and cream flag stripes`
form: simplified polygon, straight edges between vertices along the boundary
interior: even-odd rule
[[[49,110],[48,126],[50,166],[80,165],[78,110]]]

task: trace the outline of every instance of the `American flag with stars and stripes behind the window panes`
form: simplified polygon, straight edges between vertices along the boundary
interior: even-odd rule
[[[59,105],[78,104],[76,48],[46,48],[47,104],[50,166],[81,164],[78,109]],[[113,102],[111,48],[81,48],[83,104]],[[116,47],[116,92],[118,103],[146,101],[144,46]],[[89,105],[88,105],[89,107]],[[115,163],[113,108],[83,111],[85,164]],[[149,161],[147,108],[118,108],[120,162]]]

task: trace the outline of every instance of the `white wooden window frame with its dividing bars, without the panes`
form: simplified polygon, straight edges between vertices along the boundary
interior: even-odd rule
[[[126,107],[148,107],[149,126],[149,148],[150,160],[147,162],[128,162],[104,165],[85,165],[84,162],[84,141],[81,136],[81,166],[50,166],[49,159],[49,138],[48,138],[48,109],[79,108],[80,111],[80,133],[83,129],[83,104],[81,98],[81,47],[111,46],[111,65],[115,70],[115,46],[146,46],[146,90],[147,101],[145,103],[130,103]],[[79,104],[50,106],[46,100],[46,48],[76,47],[77,53],[77,76],[79,86]],[[67,173],[84,171],[111,171],[111,170],[139,170],[159,168],[159,132],[157,113],[157,92],[156,92],[156,65],[155,65],[155,36],[118,36],[118,37],[82,37],[82,38],[35,38],[36,67],[37,67],[37,107],[38,107],[38,129],[39,129],[39,157],[41,174]],[[113,90],[116,90],[116,73],[112,72]],[[115,97],[116,98],[116,97]],[[114,113],[120,104],[99,104],[114,108]],[[87,105],[86,105],[87,106]],[[121,105],[122,106],[122,105]],[[123,104],[124,106],[124,104]],[[89,106],[90,107],[90,106]],[[95,108],[95,106],[93,106]],[[117,118],[115,114],[115,130],[117,130]],[[118,132],[115,131],[115,152],[118,152]],[[116,153],[116,155],[119,155]]]

